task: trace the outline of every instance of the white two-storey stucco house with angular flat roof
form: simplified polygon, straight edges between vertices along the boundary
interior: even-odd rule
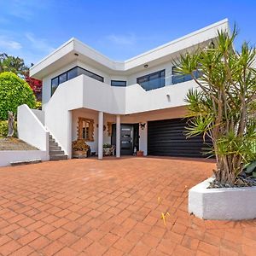
[[[42,150],[52,140],[52,151],[67,158],[78,138],[99,159],[104,143],[115,146],[117,157],[135,149],[144,155],[200,156],[201,137],[183,134],[184,98],[196,84],[177,75],[172,61],[214,43],[223,29],[226,19],[121,62],[71,38],[31,67],[31,76],[43,80],[43,110],[20,106],[19,137]]]

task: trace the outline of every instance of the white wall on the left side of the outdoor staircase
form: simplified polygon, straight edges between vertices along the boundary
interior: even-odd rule
[[[45,129],[27,105],[19,106],[17,121],[19,138],[40,150],[48,152],[49,131]]]

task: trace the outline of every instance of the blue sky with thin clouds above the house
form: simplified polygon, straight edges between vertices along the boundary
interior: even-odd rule
[[[0,52],[36,63],[75,37],[116,61],[228,18],[256,44],[256,1],[0,0]]]

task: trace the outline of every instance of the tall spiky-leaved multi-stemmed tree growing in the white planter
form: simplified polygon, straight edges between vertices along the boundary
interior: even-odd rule
[[[217,42],[182,55],[177,67],[198,85],[186,97],[188,136],[211,137],[217,161],[214,183],[231,187],[244,185],[239,177],[243,165],[256,160],[256,49],[244,43],[237,52],[236,34],[236,28],[232,34],[218,32]]]

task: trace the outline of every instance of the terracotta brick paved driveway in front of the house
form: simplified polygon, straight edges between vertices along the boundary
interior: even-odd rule
[[[189,216],[188,189],[212,167],[106,158],[0,168],[0,254],[256,255],[256,221]]]

